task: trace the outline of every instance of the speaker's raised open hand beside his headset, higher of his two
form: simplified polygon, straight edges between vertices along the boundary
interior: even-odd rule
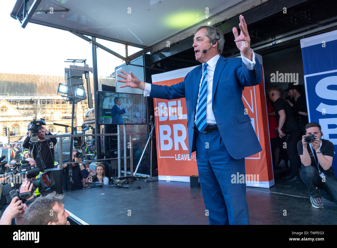
[[[240,52],[245,56],[247,59],[252,60],[253,59],[253,52],[250,50],[250,37],[248,34],[247,24],[242,15],[239,17],[240,23],[240,35],[238,34],[238,30],[236,27],[232,29],[236,46],[240,50]]]

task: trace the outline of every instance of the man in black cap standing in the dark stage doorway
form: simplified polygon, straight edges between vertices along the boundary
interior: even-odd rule
[[[301,128],[302,135],[305,135],[305,125],[309,122],[305,95],[300,93],[298,85],[294,85],[294,83],[289,83],[288,88],[284,91],[288,92],[289,97],[294,100],[293,102],[287,100],[287,102],[293,107],[296,121]]]

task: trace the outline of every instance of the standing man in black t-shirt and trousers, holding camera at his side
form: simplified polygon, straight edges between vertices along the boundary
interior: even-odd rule
[[[278,86],[272,86],[269,88],[268,93],[269,99],[274,102],[278,125],[277,132],[280,138],[284,138],[283,142],[286,142],[286,151],[294,174],[294,176],[289,179],[289,182],[295,182],[300,180],[300,163],[296,144],[301,138],[301,130],[296,122],[292,108],[282,99],[283,90]]]

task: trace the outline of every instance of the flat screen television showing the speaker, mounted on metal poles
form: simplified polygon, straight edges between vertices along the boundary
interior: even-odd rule
[[[143,94],[97,91],[99,125],[146,125]]]

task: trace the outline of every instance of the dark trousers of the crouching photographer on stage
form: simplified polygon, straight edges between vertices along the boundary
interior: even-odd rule
[[[323,196],[337,204],[337,178],[335,175],[326,175],[325,182],[322,182],[322,178],[315,167],[302,165],[300,176],[311,196]]]

